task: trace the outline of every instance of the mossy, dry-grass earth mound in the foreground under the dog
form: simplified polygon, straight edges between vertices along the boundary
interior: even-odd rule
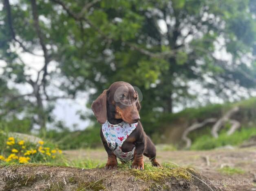
[[[170,169],[170,171],[173,169],[174,168]],[[174,170],[177,171],[177,169]],[[143,176],[141,176],[141,173]],[[163,179],[155,179],[150,178],[150,176],[144,178],[147,171],[141,172],[139,170],[131,169],[108,171],[104,169],[83,170],[72,167],[51,167],[45,165],[15,165],[0,167],[0,190],[211,190],[198,179],[203,179],[202,176],[194,171],[191,171],[190,173],[192,176],[189,180],[187,177],[175,177],[171,176],[171,174],[170,176],[165,176]],[[212,189],[225,190],[223,187],[212,187]]]

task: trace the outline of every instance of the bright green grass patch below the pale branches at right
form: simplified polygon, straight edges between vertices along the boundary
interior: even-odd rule
[[[226,132],[222,131],[218,138],[211,135],[201,135],[194,142],[192,142],[191,150],[210,150],[225,145],[239,145],[250,137],[256,135],[256,128],[241,128],[232,135],[228,136]]]

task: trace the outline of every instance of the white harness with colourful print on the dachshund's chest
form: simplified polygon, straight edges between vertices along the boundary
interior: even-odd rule
[[[108,147],[113,151],[117,158],[122,161],[133,159],[135,148],[130,152],[123,152],[121,148],[124,141],[129,137],[132,131],[135,130],[137,125],[138,123],[128,124],[126,122],[113,125],[108,121],[102,124],[102,133],[108,143]]]

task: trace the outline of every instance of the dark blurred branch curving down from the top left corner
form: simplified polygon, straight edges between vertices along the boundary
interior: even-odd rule
[[[16,38],[15,30],[14,30],[13,24],[12,24],[11,6],[10,6],[10,3],[9,3],[9,0],[4,0],[4,7],[5,7],[5,10],[7,12],[7,22],[8,22],[8,25],[9,25],[9,30],[10,30],[12,39],[20,45],[20,47],[23,49],[24,52],[28,52],[28,53],[33,54],[35,56],[42,56],[40,54],[35,54],[35,53],[31,52],[30,50],[28,50],[23,45],[22,41],[20,41],[19,39]]]

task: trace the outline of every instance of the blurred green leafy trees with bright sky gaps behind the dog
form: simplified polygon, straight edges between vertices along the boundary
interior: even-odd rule
[[[42,129],[54,121],[57,99],[87,91],[90,106],[120,80],[141,89],[146,125],[174,107],[214,102],[210,97],[249,97],[256,84],[255,9],[255,0],[4,0],[1,86],[8,91],[1,94],[15,91],[7,81],[27,87],[11,104],[22,102],[17,113]],[[36,75],[19,52],[43,56]]]

